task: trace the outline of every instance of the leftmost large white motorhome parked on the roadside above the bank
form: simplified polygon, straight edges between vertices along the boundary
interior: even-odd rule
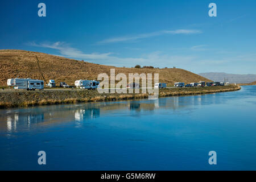
[[[14,86],[14,89],[27,89],[27,90],[44,89],[43,80],[33,80],[31,78],[11,78],[7,80],[7,85]]]

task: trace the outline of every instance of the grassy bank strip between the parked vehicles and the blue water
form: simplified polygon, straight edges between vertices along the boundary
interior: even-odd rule
[[[185,96],[216,92],[229,92],[241,89],[240,86],[213,86],[204,88],[160,89],[159,97]],[[0,108],[26,107],[51,104],[76,104],[79,102],[101,102],[148,98],[148,94],[100,94],[97,90],[43,90],[0,92]]]

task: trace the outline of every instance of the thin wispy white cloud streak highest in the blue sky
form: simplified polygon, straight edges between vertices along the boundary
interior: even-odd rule
[[[146,33],[146,34],[138,34],[134,36],[121,36],[117,38],[109,38],[109,39],[104,39],[100,42],[97,42],[97,44],[106,44],[106,43],[117,43],[117,42],[128,42],[128,41],[134,41],[138,39],[145,39],[145,38],[150,38],[152,36],[159,36],[163,34],[201,34],[202,31],[200,30],[187,30],[187,29],[179,29],[179,30],[162,30],[162,31],[157,31],[157,32],[151,32],[151,33]]]

